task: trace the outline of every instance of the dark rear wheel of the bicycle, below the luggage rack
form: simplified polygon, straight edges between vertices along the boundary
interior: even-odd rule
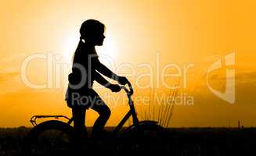
[[[24,142],[24,155],[60,155],[74,150],[74,129],[67,123],[51,120],[31,129]]]

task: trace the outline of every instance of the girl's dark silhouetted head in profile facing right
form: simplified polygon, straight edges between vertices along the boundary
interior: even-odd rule
[[[81,24],[80,38],[93,45],[103,45],[105,38],[104,30],[104,24],[100,23],[98,20],[85,20],[85,22]]]

